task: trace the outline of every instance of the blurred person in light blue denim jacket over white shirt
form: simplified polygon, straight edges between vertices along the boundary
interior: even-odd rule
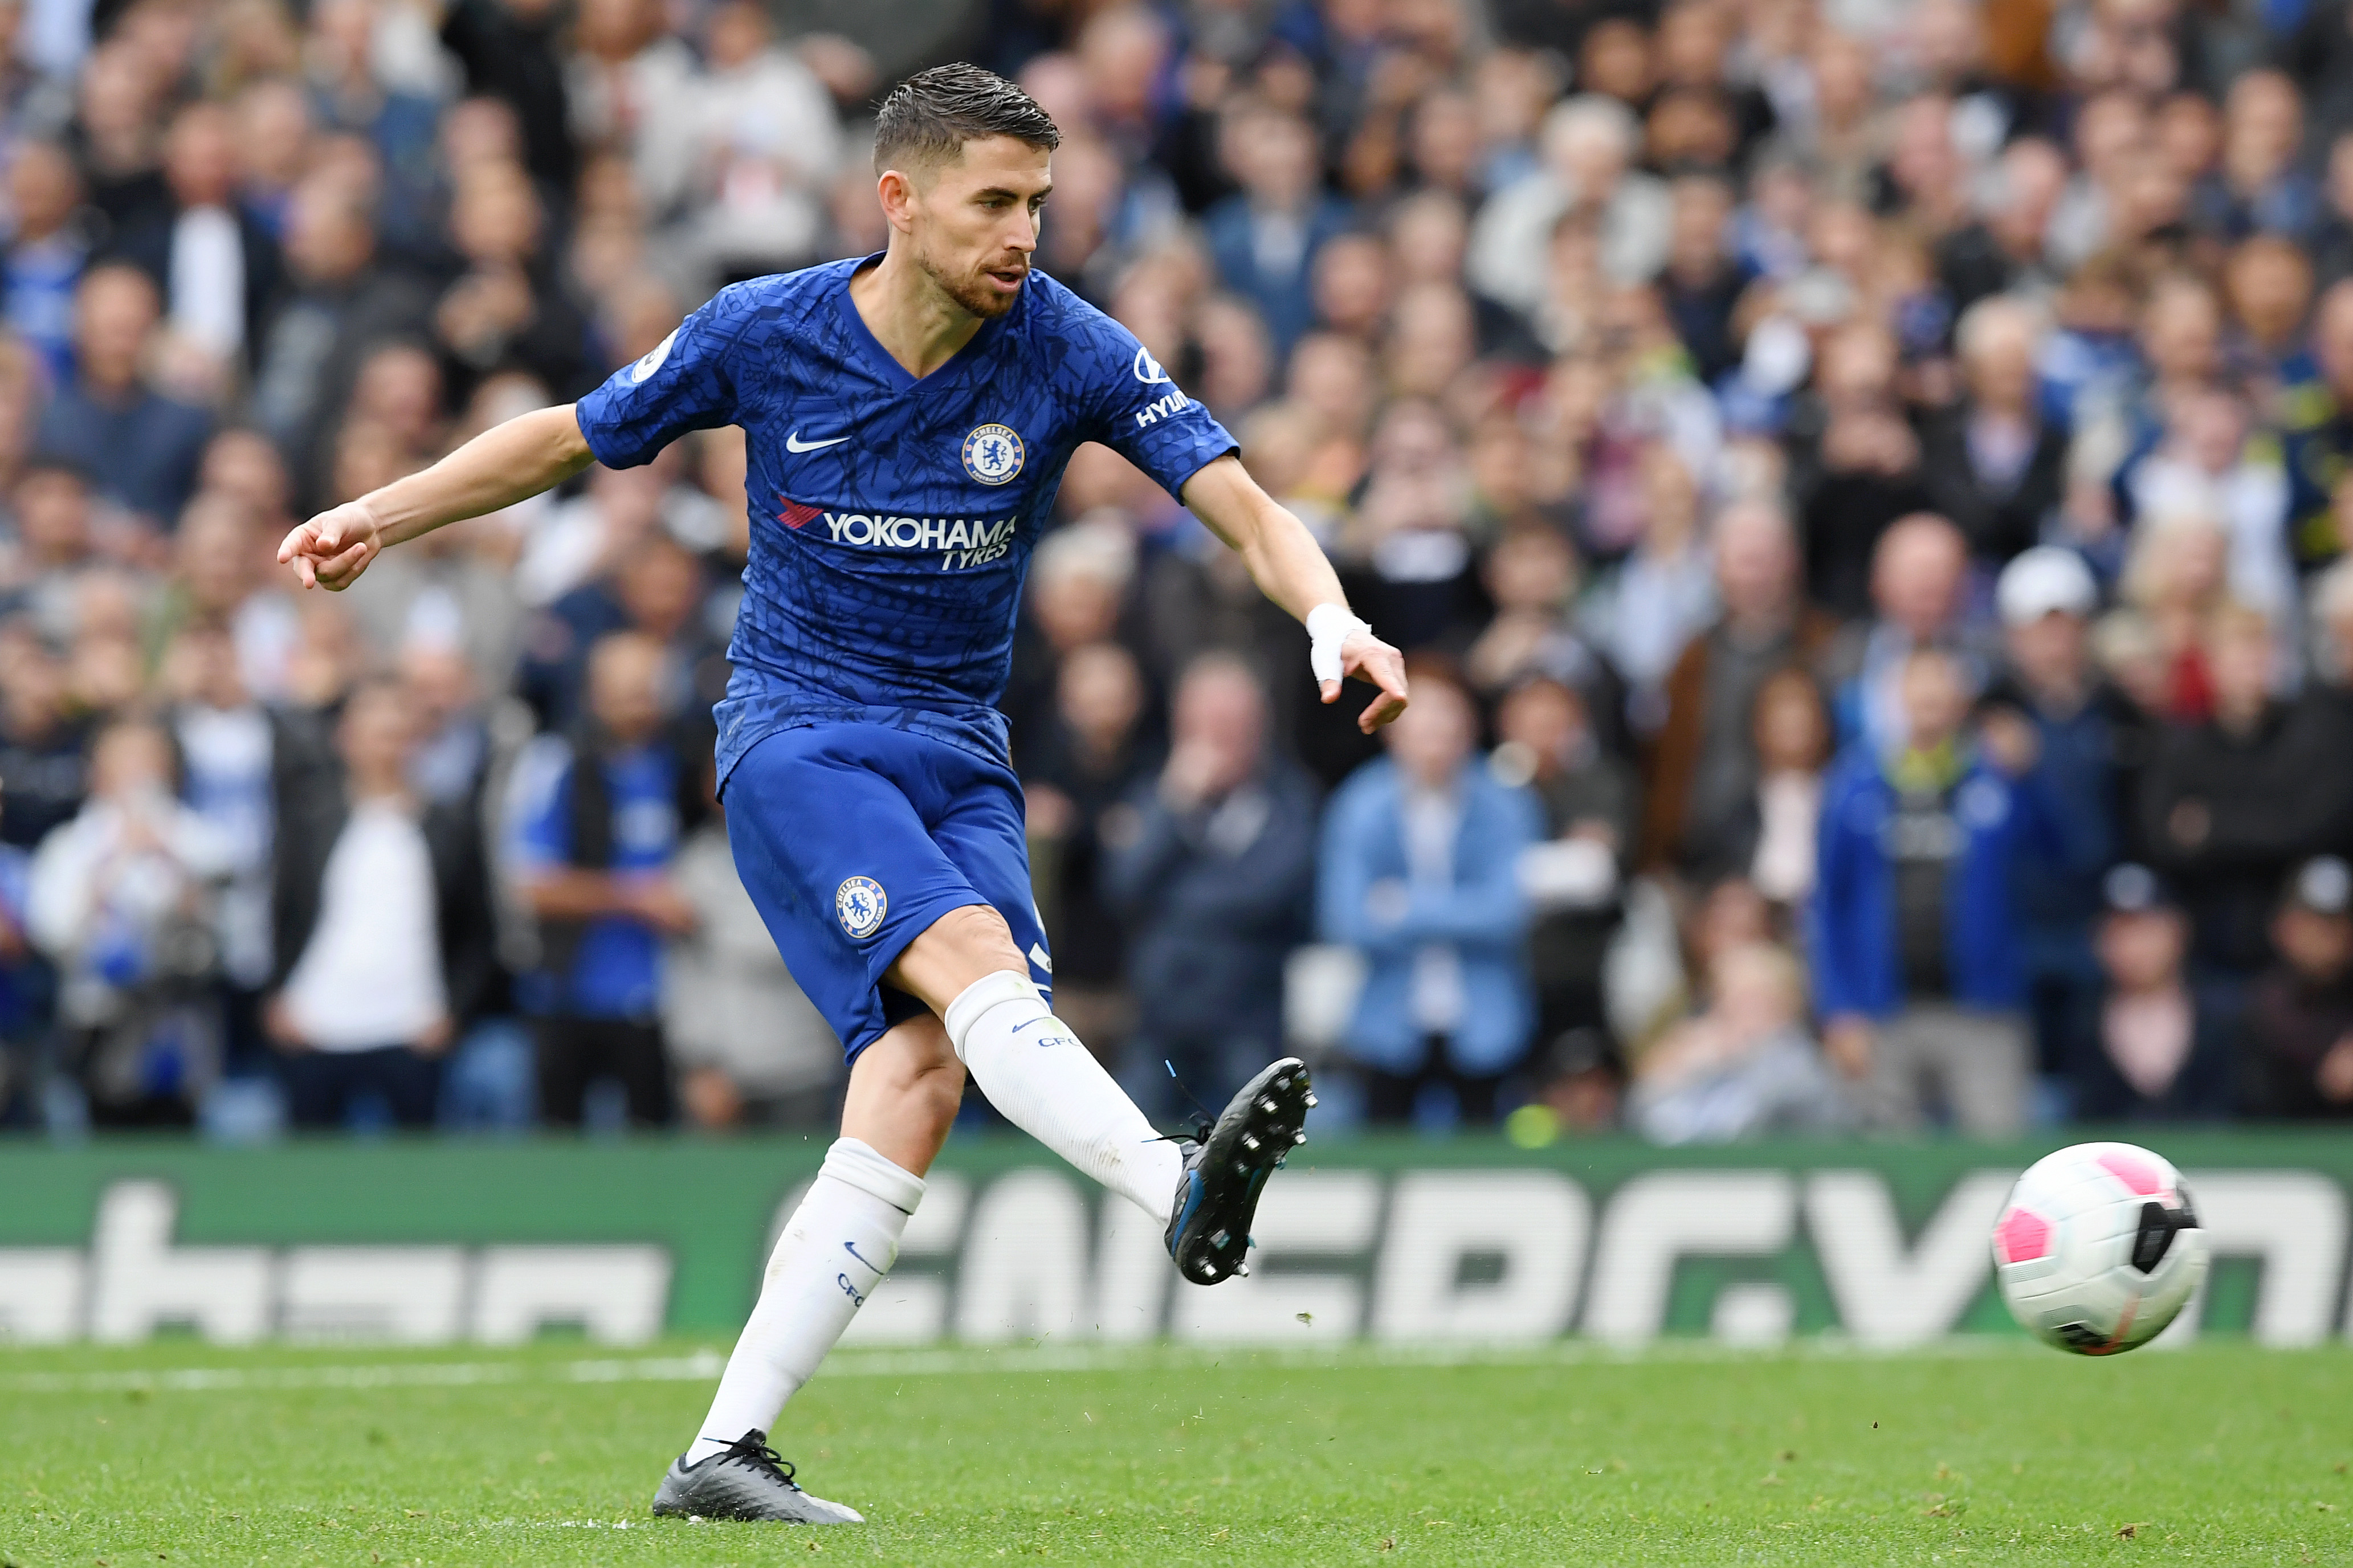
[[[1520,856],[1544,816],[1482,766],[1459,679],[1417,663],[1412,682],[1414,705],[1381,731],[1388,757],[1332,797],[1318,922],[1367,959],[1344,1041],[1367,1119],[1435,1114],[1424,1095],[1447,1088],[1466,1124],[1492,1124],[1537,1025]]]

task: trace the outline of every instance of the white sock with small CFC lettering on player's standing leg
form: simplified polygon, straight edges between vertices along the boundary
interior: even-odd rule
[[[751,1321],[727,1356],[687,1465],[720,1453],[746,1432],[774,1429],[776,1413],[816,1373],[849,1319],[889,1265],[899,1234],[922,1201],[922,1178],[856,1138],[826,1150],[826,1164],[767,1255],[767,1279]]]

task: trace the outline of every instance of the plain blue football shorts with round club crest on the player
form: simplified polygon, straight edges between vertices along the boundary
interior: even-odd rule
[[[882,976],[948,910],[993,907],[1052,987],[1009,769],[885,724],[812,724],[755,741],[722,799],[744,891],[849,1060],[925,1011]]]

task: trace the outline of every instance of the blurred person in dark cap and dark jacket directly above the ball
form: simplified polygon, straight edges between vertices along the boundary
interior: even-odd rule
[[[2212,1121],[2238,1093],[2238,1009],[2184,971],[2188,919],[2144,865],[2101,884],[2097,1048],[2073,1070],[2085,1121]]]

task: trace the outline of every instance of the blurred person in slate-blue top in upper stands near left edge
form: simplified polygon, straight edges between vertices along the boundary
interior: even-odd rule
[[[73,381],[49,395],[35,444],[89,475],[101,496],[165,529],[195,491],[212,435],[205,409],[167,397],[148,378],[155,282],[134,266],[101,263],[73,292]]]

